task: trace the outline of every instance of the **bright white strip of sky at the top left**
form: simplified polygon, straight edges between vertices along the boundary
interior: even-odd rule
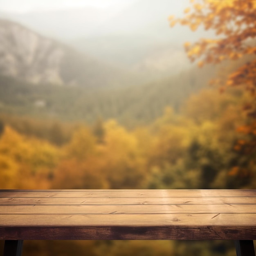
[[[71,7],[109,7],[129,4],[131,0],[0,0],[0,11],[25,13],[34,10],[52,10]]]

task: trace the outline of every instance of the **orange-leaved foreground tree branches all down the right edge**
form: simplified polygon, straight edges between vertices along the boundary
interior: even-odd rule
[[[256,152],[256,1],[252,0],[191,0],[191,6],[184,10],[184,18],[170,16],[170,25],[186,25],[192,31],[198,27],[215,31],[215,38],[202,38],[195,43],[184,44],[188,57],[198,66],[217,64],[227,60],[238,60],[250,55],[245,64],[228,74],[221,90],[229,87],[249,92],[250,100],[243,104],[248,119],[238,128],[248,136],[239,141],[237,150],[247,155]],[[218,79],[211,81],[220,83]]]

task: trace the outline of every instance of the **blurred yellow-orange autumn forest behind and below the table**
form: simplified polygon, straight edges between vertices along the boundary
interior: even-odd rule
[[[235,147],[247,136],[236,132],[246,117],[241,91],[220,95],[202,90],[185,101],[178,115],[166,108],[147,126],[127,129],[115,119],[90,126],[1,115],[0,186],[2,189],[249,189],[256,186],[250,155]],[[11,128],[13,127],[13,128]],[[177,242],[29,242],[26,255],[54,255],[90,250],[112,256],[127,252],[147,255],[234,253],[233,244]],[[147,247],[144,248],[144,247]],[[43,249],[44,248],[44,249]],[[175,248],[175,250],[174,250]]]

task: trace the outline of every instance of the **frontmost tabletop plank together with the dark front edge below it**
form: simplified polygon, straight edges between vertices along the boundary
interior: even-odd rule
[[[255,214],[0,216],[0,239],[253,240]],[[30,220],[30,221],[29,221]],[[28,225],[25,223],[29,222]],[[4,223],[4,225],[2,225]]]

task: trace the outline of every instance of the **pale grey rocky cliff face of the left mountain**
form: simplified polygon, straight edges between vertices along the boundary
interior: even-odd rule
[[[31,83],[62,84],[63,47],[7,20],[0,20],[0,72]]]

